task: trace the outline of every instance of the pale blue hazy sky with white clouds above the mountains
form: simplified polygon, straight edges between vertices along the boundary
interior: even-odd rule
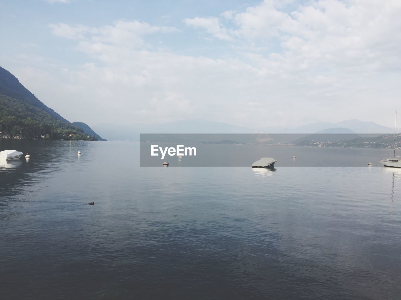
[[[92,126],[393,126],[400,16],[400,0],[0,0],[0,66]]]

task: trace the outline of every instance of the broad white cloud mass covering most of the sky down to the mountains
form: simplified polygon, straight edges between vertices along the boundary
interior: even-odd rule
[[[224,54],[206,40],[208,51],[197,46],[196,55],[182,54],[194,48],[185,42],[167,49],[149,35],[163,42],[178,29],[138,20],[52,24],[90,63],[44,71],[43,61],[18,57],[40,72],[21,67],[16,76],[62,116],[90,124],[207,118],[263,128],[359,118],[391,126],[377,112],[399,105],[401,2],[316,0],[292,11],[276,3],[184,19],[202,38],[227,41]]]

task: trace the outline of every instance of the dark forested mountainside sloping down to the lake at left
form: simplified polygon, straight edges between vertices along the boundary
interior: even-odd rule
[[[103,140],[87,124],[70,123],[0,67],[0,138]]]

